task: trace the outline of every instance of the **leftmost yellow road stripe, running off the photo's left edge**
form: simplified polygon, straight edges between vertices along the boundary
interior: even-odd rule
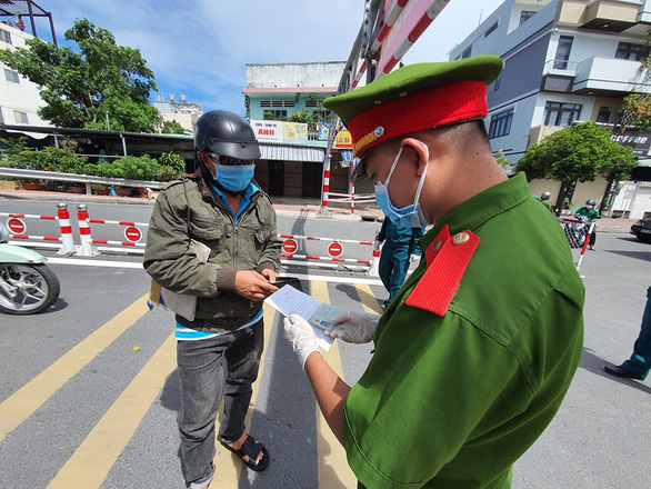
[[[0,441],[146,312],[142,296],[0,403]]]

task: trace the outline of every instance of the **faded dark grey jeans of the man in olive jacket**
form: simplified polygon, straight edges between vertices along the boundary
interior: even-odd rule
[[[233,442],[244,433],[244,418],[264,348],[262,320],[239,331],[177,342],[181,382],[181,470],[188,486],[214,472],[214,421],[223,397],[219,436]],[[223,360],[227,362],[224,383]]]

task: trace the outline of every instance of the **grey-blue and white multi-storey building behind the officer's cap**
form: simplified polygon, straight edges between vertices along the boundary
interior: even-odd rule
[[[532,144],[574,122],[619,123],[625,96],[651,93],[651,79],[640,70],[650,28],[649,0],[507,0],[450,59],[492,53],[504,60],[489,87],[485,121],[493,151],[517,162]],[[533,193],[551,191],[553,199],[560,183],[531,187]],[[600,200],[607,187],[603,179],[581,183],[572,200]],[[648,188],[639,190],[640,202],[648,200]],[[615,199],[613,210],[618,206],[623,203]],[[651,212],[644,206],[630,216]]]

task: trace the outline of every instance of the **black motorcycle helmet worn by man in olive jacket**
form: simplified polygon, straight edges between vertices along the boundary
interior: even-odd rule
[[[260,147],[247,120],[228,110],[211,110],[197,120],[194,148],[238,160],[257,160]]]

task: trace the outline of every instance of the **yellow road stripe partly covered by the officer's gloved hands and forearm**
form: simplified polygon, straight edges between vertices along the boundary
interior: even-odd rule
[[[323,281],[311,282],[311,296],[326,303],[330,303],[328,283]],[[334,341],[330,350],[323,353],[326,361],[343,378],[339,346]],[[319,462],[319,489],[345,489],[357,487],[357,478],[348,466],[345,450],[330,430],[326,418],[317,405],[317,447]]]

